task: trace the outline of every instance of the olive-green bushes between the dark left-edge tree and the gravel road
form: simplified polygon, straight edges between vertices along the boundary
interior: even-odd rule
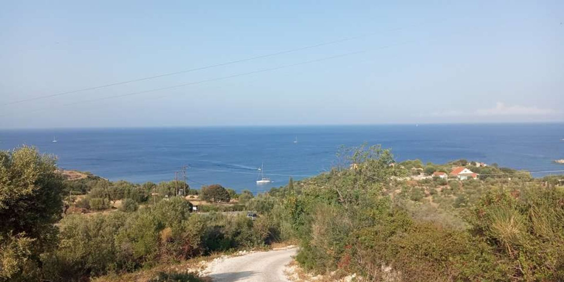
[[[80,280],[199,255],[205,221],[190,208],[182,197],[173,197],[130,213],[68,215],[60,222],[58,250],[43,256],[44,277]]]

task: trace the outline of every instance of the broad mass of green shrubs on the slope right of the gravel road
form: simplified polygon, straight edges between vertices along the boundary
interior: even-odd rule
[[[363,149],[356,155],[365,155]],[[371,155],[372,163],[382,155]],[[363,161],[351,162],[350,169],[301,182],[300,193],[281,194],[301,245],[296,259],[306,269],[376,281],[564,279],[562,191],[527,188],[532,179],[513,175],[448,186],[438,180],[396,186],[389,167],[371,171]],[[379,173],[390,177],[375,178]],[[506,187],[501,192],[486,192],[501,183]],[[387,192],[398,187],[399,193]],[[424,187],[433,195],[432,205],[422,199]],[[385,195],[394,195],[393,204]]]

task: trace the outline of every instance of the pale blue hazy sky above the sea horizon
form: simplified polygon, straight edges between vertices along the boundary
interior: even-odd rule
[[[564,121],[563,1],[238,2],[3,3],[0,128]]]

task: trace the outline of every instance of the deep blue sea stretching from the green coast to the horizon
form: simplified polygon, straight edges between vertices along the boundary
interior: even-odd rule
[[[51,140],[56,136],[58,142]],[[297,138],[298,143],[293,143]],[[335,164],[341,145],[382,144],[399,160],[457,158],[529,171],[564,170],[564,124],[176,127],[1,130],[0,149],[22,144],[58,156],[59,167],[131,182],[174,179],[266,191]],[[274,183],[257,185],[259,171]],[[535,173],[535,177],[548,173]]]

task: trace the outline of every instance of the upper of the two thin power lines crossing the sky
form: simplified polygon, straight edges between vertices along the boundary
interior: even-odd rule
[[[390,30],[388,30],[388,31],[402,30],[402,29],[405,29],[405,28],[408,28],[408,27],[413,27],[413,26],[415,26],[415,25],[421,25],[421,23],[419,23],[419,24],[413,24],[413,25],[407,25],[406,27],[401,27],[401,28],[394,28],[394,29],[390,29]],[[176,75],[176,74],[181,74],[181,73],[195,72],[195,71],[197,71],[197,70],[204,70],[204,69],[209,69],[209,68],[222,67],[222,66],[224,66],[224,65],[236,64],[236,63],[243,63],[243,62],[245,62],[245,61],[257,60],[257,59],[264,59],[264,58],[268,58],[268,57],[272,57],[272,56],[277,56],[277,55],[282,55],[282,54],[288,54],[288,53],[297,52],[297,51],[302,51],[302,50],[307,50],[307,49],[313,49],[313,48],[316,48],[316,47],[332,45],[332,44],[340,43],[340,42],[351,41],[351,40],[354,40],[354,39],[359,39],[359,38],[368,37],[368,36],[371,36],[371,35],[373,35],[373,34],[375,34],[375,33],[368,33],[368,34],[363,34],[363,35],[354,36],[354,37],[346,37],[346,38],[341,38],[341,39],[337,39],[337,40],[334,40],[334,41],[328,41],[328,42],[318,43],[318,44],[315,44],[315,45],[303,46],[303,47],[299,47],[299,48],[296,48],[296,49],[289,49],[289,50],[274,52],[274,53],[266,54],[266,55],[254,56],[254,57],[245,58],[245,59],[237,59],[237,60],[227,61],[227,62],[225,62],[225,63],[206,65],[206,66],[204,66],[204,67],[198,67],[198,68],[180,70],[180,71],[178,71],[178,72],[170,72],[170,73],[157,74],[157,75],[155,75],[155,76],[149,76],[149,77],[143,77],[143,78],[136,78],[135,80],[120,81],[120,82],[114,82],[114,83],[108,83],[108,84],[104,84],[104,85],[99,85],[99,86],[86,87],[86,88],[77,89],[77,90],[59,92],[59,93],[51,94],[51,95],[37,96],[37,97],[34,97],[34,98],[29,98],[29,99],[21,99],[21,100],[16,100],[16,101],[13,101],[13,102],[10,102],[10,103],[5,103],[5,104],[3,104],[3,105],[20,104],[20,103],[24,103],[24,102],[30,102],[30,101],[33,101],[33,100],[52,98],[52,97],[55,97],[55,96],[74,94],[74,93],[77,93],[77,92],[83,92],[83,91],[88,91],[88,90],[96,90],[96,89],[102,89],[102,88],[105,88],[105,87],[111,87],[111,86],[117,86],[117,85],[124,85],[124,84],[127,84],[127,83],[133,83],[133,82],[139,82],[139,81],[145,81],[145,80],[152,80],[152,79],[160,78],[160,77],[174,76],[174,75]]]

